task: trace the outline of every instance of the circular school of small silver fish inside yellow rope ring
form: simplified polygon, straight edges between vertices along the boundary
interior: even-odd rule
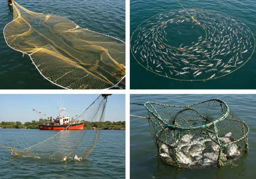
[[[130,47],[146,69],[179,80],[208,80],[250,59],[255,40],[243,22],[217,11],[187,11],[200,25],[185,10],[174,10],[149,18],[134,31]]]

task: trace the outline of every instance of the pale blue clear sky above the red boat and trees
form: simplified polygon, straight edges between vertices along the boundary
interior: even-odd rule
[[[70,118],[80,115],[100,94],[0,94],[0,122],[23,123],[43,118],[33,109],[48,116],[58,116],[58,100],[64,101],[66,114]],[[62,103],[63,106],[63,103]],[[45,117],[46,119],[46,117]],[[104,121],[125,121],[125,94],[108,97]]]

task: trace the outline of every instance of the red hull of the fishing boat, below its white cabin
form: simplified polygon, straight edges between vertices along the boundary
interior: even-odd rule
[[[40,130],[63,130],[66,127],[67,130],[81,130],[84,128],[84,122],[69,125],[39,125]]]

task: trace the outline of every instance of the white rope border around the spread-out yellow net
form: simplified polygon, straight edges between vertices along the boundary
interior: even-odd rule
[[[15,2],[14,0],[12,0],[12,1],[13,1],[14,3],[18,4],[18,3]],[[20,5],[20,4],[18,4],[18,5]],[[14,8],[13,8],[13,10],[14,10]],[[38,12],[35,12],[35,13],[38,13]],[[63,16],[54,15],[54,14],[48,14],[48,13],[38,13],[38,14],[42,14],[42,15],[53,15],[53,16],[63,17]],[[63,17],[63,18],[69,20],[69,19],[66,18],[66,17]],[[14,19],[14,20],[15,20],[15,19]],[[13,22],[14,20],[12,20],[11,22]],[[69,21],[72,22],[72,23],[74,23],[74,24],[76,25],[76,28],[78,28],[78,27],[79,27],[79,28],[82,28],[82,27],[78,26],[75,22],[73,22],[73,21],[71,21],[71,20],[69,20]],[[11,22],[9,22],[9,23],[11,23]],[[9,25],[9,23],[7,23],[7,24],[5,25],[5,27],[6,27],[7,25]],[[7,44],[10,48],[12,48],[12,47],[7,43],[7,40],[6,40],[6,38],[5,38],[5,33],[4,33],[5,27],[4,27],[4,30],[3,30],[4,39],[5,39],[6,44]],[[89,30],[89,29],[87,29],[87,28],[82,28],[82,29],[86,29],[87,31],[91,31],[91,30]],[[91,32],[95,32],[95,31],[91,31]],[[95,33],[98,33],[98,32],[95,32]],[[105,35],[105,34],[102,34],[102,33],[98,33],[98,34],[101,34],[101,35],[103,35],[103,36],[107,36],[107,37],[111,37],[111,38],[117,39],[117,40],[123,42],[124,44],[126,44],[123,40],[120,40],[120,39],[118,39],[118,38],[115,38],[115,37],[112,37],[112,36],[109,36],[109,35]],[[28,54],[28,53],[25,53],[24,51],[17,50],[17,49],[15,49],[15,48],[12,48],[12,49],[14,49],[14,50],[16,50],[16,51],[20,51],[21,53],[23,53],[23,56],[24,56],[24,54],[27,54],[27,55],[30,57],[30,60],[32,61],[32,64],[33,64],[33,65],[36,67],[36,69],[39,71],[40,75],[42,75],[46,80],[48,80],[49,82],[51,82],[51,83],[53,83],[54,85],[59,86],[59,87],[61,87],[61,88],[64,88],[64,89],[71,89],[71,88],[67,88],[67,87],[58,85],[57,83],[54,83],[54,82],[50,81],[46,76],[44,76],[44,75],[41,73],[41,71],[38,69],[38,67],[37,67],[36,64],[34,63],[33,59],[31,58],[31,55],[32,55],[33,53],[39,51],[39,50],[34,51],[34,52],[31,53],[31,54]],[[23,56],[22,56],[22,57],[23,57]],[[116,85],[113,85],[112,87],[105,88],[105,89],[111,89],[111,88],[113,88],[113,87],[117,87],[117,85],[118,85],[125,77],[126,77],[126,75],[124,75],[123,78],[122,78],[119,82],[116,83]]]

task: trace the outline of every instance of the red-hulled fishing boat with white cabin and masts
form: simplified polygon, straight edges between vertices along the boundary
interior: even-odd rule
[[[58,107],[58,110],[59,110],[59,115],[57,116],[56,119],[53,119],[52,117],[49,117],[46,114],[43,114],[37,111],[36,109],[33,109],[33,111],[36,111],[37,113],[47,116],[46,123],[39,124],[40,130],[63,130],[63,129],[82,130],[83,129],[84,121],[75,120],[74,117],[70,119],[69,115],[65,113],[66,108]]]

